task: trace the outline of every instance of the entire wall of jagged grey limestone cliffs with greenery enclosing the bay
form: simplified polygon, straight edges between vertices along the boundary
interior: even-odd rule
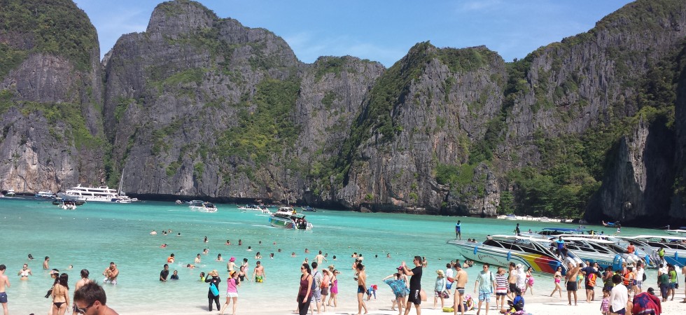
[[[30,20],[34,6],[9,3]],[[304,64],[272,32],[187,0],[161,3],[98,65],[87,17],[55,6],[75,13],[76,41],[19,20],[0,30],[1,188],[123,172],[143,197],[686,218],[682,1],[630,3],[514,62],[425,42],[389,69]]]

